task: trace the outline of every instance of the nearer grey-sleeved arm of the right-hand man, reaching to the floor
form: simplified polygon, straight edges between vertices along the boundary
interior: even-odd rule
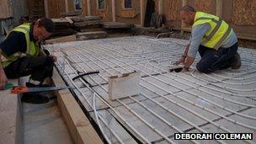
[[[187,51],[187,55],[185,57],[184,68],[183,68],[182,72],[189,71],[189,67],[195,61],[195,56],[199,49],[200,43],[201,43],[205,33],[209,29],[211,29],[209,24],[200,24],[192,29],[190,45],[189,45],[189,49]]]

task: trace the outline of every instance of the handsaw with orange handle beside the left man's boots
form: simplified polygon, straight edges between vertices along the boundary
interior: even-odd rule
[[[72,87],[63,86],[63,87],[28,88],[28,87],[15,86],[11,90],[11,93],[12,94],[21,94],[21,93],[29,93],[29,92],[48,92],[48,91],[66,89],[66,88],[72,88]]]

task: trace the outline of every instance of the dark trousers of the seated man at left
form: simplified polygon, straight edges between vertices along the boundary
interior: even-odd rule
[[[43,83],[45,77],[52,77],[53,64],[54,62],[49,56],[24,56],[5,67],[4,72],[8,78],[31,75],[32,80]]]

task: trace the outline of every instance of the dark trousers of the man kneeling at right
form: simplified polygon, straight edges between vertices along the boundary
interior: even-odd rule
[[[234,56],[237,53],[237,48],[237,43],[229,48],[220,47],[218,51],[200,45],[199,53],[201,60],[196,64],[197,70],[199,72],[210,73],[231,67]]]

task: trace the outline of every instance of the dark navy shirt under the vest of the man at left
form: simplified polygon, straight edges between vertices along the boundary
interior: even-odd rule
[[[30,40],[36,41],[33,35],[33,26],[31,24],[29,31]],[[6,56],[11,56],[16,52],[25,53],[27,51],[27,42],[24,33],[12,31],[8,37],[0,43],[0,49]]]

